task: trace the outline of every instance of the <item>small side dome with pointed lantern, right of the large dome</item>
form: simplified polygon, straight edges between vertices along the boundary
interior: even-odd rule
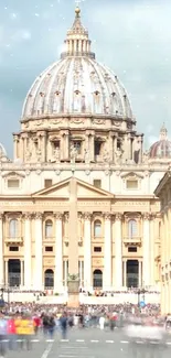
[[[168,131],[163,124],[160,130],[160,140],[153,143],[149,151],[150,159],[171,159],[171,141],[168,140]]]

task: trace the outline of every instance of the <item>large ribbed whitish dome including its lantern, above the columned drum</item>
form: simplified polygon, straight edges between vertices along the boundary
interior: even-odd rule
[[[47,67],[25,98],[22,119],[54,115],[101,115],[132,119],[128,96],[118,77],[95,61],[79,10],[60,62]]]

